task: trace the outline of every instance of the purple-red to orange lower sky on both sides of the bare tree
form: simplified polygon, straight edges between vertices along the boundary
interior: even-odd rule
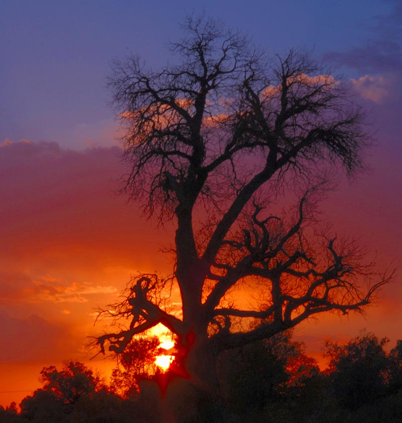
[[[372,166],[353,185],[343,182],[323,203],[338,234],[355,234],[380,266],[400,264],[402,192],[399,162],[391,149],[374,149],[387,166]],[[56,143],[5,142],[0,147],[0,404],[17,403],[40,386],[43,366],[78,360],[93,368],[113,366],[84,347],[94,308],[114,302],[130,274],[168,272],[159,252],[173,228],[140,218],[136,204],[116,196],[124,173],[117,147],[68,151]],[[377,251],[377,252],[375,252]],[[370,257],[370,254],[368,257]],[[398,261],[399,260],[399,261]],[[319,317],[295,333],[320,357],[326,337],[348,340],[362,328],[394,344],[402,337],[397,275],[366,320]],[[109,370],[108,370],[109,369]],[[7,392],[6,392],[7,391]],[[9,392],[16,391],[16,392]]]

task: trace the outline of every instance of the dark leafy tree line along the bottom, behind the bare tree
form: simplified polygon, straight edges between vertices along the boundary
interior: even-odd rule
[[[388,340],[362,333],[347,344],[327,341],[328,367],[305,354],[286,331],[227,351],[218,361],[225,421],[341,423],[402,419],[402,340],[386,353]],[[109,383],[82,363],[61,370],[44,367],[42,388],[0,408],[0,421],[145,423],[193,420],[202,403],[183,392],[180,356],[163,373],[155,365],[157,339],[135,339]],[[208,394],[208,392],[204,392]],[[197,391],[197,395],[203,395]]]

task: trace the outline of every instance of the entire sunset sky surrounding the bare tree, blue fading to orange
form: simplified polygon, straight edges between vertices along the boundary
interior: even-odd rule
[[[215,3],[0,0],[1,405],[32,394],[43,366],[77,360],[104,369],[84,348],[102,329],[94,309],[116,301],[131,274],[170,270],[160,248],[173,226],[158,228],[116,195],[126,165],[105,86],[115,58],[164,65],[186,12],[223,18],[269,55],[304,47],[343,75],[375,145],[368,171],[342,178],[323,216],[359,239],[379,270],[401,268],[400,0]],[[365,318],[322,316],[295,338],[316,358],[326,338],[349,340],[363,328],[393,346],[402,338],[401,277]]]

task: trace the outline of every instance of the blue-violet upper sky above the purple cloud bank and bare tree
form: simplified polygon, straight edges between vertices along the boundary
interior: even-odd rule
[[[397,7],[393,0],[249,1],[247,5],[1,0],[0,140],[47,140],[71,148],[83,148],[85,141],[112,142],[113,113],[105,88],[110,62],[133,53],[155,68],[162,66],[169,58],[164,44],[180,36],[177,23],[185,13],[204,11],[221,17],[269,54],[298,46],[314,49],[317,58],[358,78],[367,72],[353,69],[347,54],[360,49],[357,65],[367,63],[364,49],[395,29]],[[342,67],[343,63],[349,66]],[[368,66],[367,71],[377,74],[378,67]]]

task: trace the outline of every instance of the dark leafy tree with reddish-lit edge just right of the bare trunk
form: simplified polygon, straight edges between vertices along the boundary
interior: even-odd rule
[[[320,372],[291,335],[288,330],[220,355],[220,384],[232,411],[262,412],[268,403],[297,394]]]

